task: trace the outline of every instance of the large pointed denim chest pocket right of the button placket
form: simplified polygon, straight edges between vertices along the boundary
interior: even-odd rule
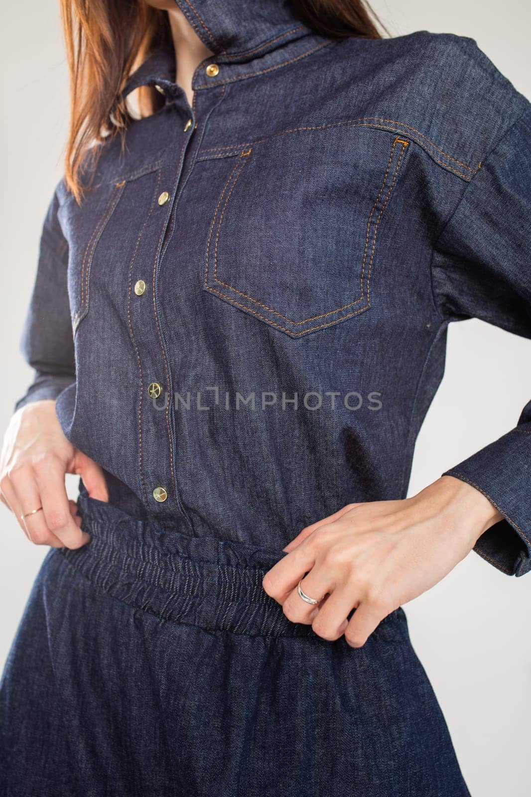
[[[242,147],[211,221],[204,289],[293,337],[368,310],[408,143],[338,124]]]

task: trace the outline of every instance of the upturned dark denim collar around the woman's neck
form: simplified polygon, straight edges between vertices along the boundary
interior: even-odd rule
[[[175,2],[214,53],[195,70],[192,80],[195,91],[272,72],[332,42],[303,25],[293,15],[287,0]],[[207,73],[210,64],[217,64],[219,68],[211,77]],[[171,96],[174,81],[173,47],[160,47],[129,76],[120,96],[127,96],[140,85],[155,84]]]

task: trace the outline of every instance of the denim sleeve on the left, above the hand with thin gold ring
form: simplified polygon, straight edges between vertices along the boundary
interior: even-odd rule
[[[76,380],[67,268],[69,246],[57,218],[57,186],[41,228],[37,275],[22,333],[21,349],[33,381],[14,410],[57,396]]]

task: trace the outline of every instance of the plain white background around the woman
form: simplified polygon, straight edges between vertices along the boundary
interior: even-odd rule
[[[525,0],[375,0],[373,7],[392,35],[427,29],[473,37],[531,97],[531,14]],[[41,222],[62,172],[69,86],[57,2],[5,3],[1,15],[0,149],[7,175],[0,214],[3,434],[14,401],[32,375],[18,341]],[[450,327],[446,375],[419,437],[410,493],[515,425],[531,396],[530,362],[527,340],[476,320]],[[77,478],[70,478],[75,496]],[[30,544],[3,505],[0,519],[1,666],[48,548]],[[434,685],[473,797],[531,793],[530,607],[531,575],[511,578],[474,552],[406,606],[413,645]]]

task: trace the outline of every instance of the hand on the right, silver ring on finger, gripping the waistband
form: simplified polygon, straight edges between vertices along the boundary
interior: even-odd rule
[[[292,622],[361,647],[387,614],[443,579],[501,519],[477,489],[443,476],[403,501],[349,504],[304,528],[262,587]],[[318,605],[301,599],[300,579]]]

